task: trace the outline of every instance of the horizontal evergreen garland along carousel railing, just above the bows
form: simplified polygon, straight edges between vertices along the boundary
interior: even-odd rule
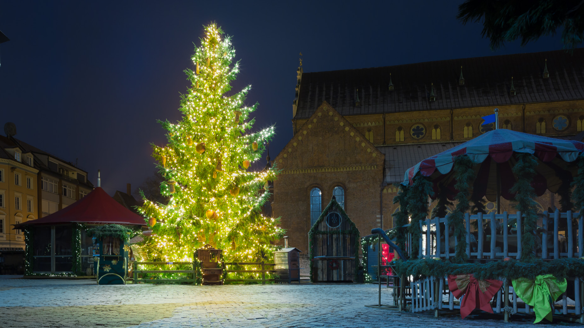
[[[584,272],[584,260],[560,258],[554,260],[534,259],[529,262],[519,260],[491,260],[487,263],[451,263],[446,260],[418,259],[397,261],[399,275],[422,277],[444,277],[449,274],[474,274],[477,279],[535,278],[540,274],[552,274],[563,280],[566,277],[579,277]]]

